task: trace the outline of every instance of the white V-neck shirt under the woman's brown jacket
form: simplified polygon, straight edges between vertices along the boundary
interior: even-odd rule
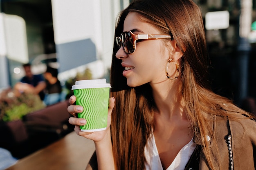
[[[195,143],[193,139],[186,144],[177,154],[171,165],[166,170],[184,170],[186,163],[188,163],[193,151],[195,150]],[[162,163],[155,144],[155,137],[151,135],[144,148],[144,155],[146,157],[146,170],[163,170]]]

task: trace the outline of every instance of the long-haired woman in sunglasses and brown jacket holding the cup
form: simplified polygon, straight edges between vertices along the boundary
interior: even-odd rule
[[[107,130],[81,132],[86,120],[69,120],[94,140],[97,161],[88,168],[254,170],[256,123],[209,90],[202,15],[192,0],[136,0],[120,13],[115,36]],[[74,116],[82,109],[68,108]]]

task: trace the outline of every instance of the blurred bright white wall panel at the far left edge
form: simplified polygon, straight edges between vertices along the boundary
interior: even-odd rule
[[[15,76],[13,67],[8,67],[7,58],[21,63],[29,61],[26,24],[18,15],[0,13],[0,88],[9,86],[12,81],[9,73]]]

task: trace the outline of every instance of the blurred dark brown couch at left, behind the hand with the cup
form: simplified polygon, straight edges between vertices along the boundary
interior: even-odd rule
[[[68,123],[68,100],[29,113],[22,120],[0,123],[0,148],[21,159],[74,130]]]

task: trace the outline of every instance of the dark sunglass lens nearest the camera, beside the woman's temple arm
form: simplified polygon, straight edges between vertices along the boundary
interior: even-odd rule
[[[121,40],[122,40],[122,46],[124,48],[124,52],[126,54],[133,53],[133,51],[134,51],[134,45],[133,45],[134,40],[132,39],[132,35],[130,34],[130,32],[122,33]]]

